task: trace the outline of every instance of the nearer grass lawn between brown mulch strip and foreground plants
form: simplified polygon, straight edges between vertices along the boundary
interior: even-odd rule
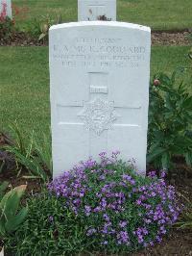
[[[184,79],[192,91],[192,62],[187,46],[152,48],[152,76],[184,66]],[[0,131],[17,123],[28,138],[50,126],[48,47],[0,47]],[[190,84],[189,84],[190,83]]]

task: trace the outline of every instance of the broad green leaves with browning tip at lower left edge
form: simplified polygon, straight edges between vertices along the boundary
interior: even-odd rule
[[[5,191],[8,184],[4,183],[0,191]],[[27,216],[27,208],[19,209],[20,199],[26,190],[25,185],[14,188],[5,193],[0,201],[0,236],[4,238],[8,233],[15,231]]]

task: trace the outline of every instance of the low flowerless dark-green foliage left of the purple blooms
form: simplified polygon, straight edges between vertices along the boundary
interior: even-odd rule
[[[61,200],[43,192],[29,199],[28,207],[28,218],[14,234],[7,236],[8,252],[30,256],[65,255],[84,250],[81,222]]]

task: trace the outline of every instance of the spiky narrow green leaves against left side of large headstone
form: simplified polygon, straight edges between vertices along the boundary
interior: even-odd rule
[[[14,160],[17,163],[17,175],[19,176],[23,168],[25,168],[29,171],[31,177],[34,177],[35,175],[35,178],[39,177],[44,182],[47,182],[49,179],[47,173],[50,173],[52,166],[51,146],[48,139],[43,135],[44,145],[41,146],[33,132],[31,140],[26,146],[17,124],[13,124],[11,128],[15,142],[10,145],[5,145],[3,148],[14,157]]]

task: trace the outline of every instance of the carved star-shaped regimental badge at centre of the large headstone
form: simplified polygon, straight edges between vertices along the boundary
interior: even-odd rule
[[[84,120],[86,129],[94,131],[98,136],[111,128],[118,116],[114,111],[114,103],[100,98],[84,102],[84,110],[79,115]]]

